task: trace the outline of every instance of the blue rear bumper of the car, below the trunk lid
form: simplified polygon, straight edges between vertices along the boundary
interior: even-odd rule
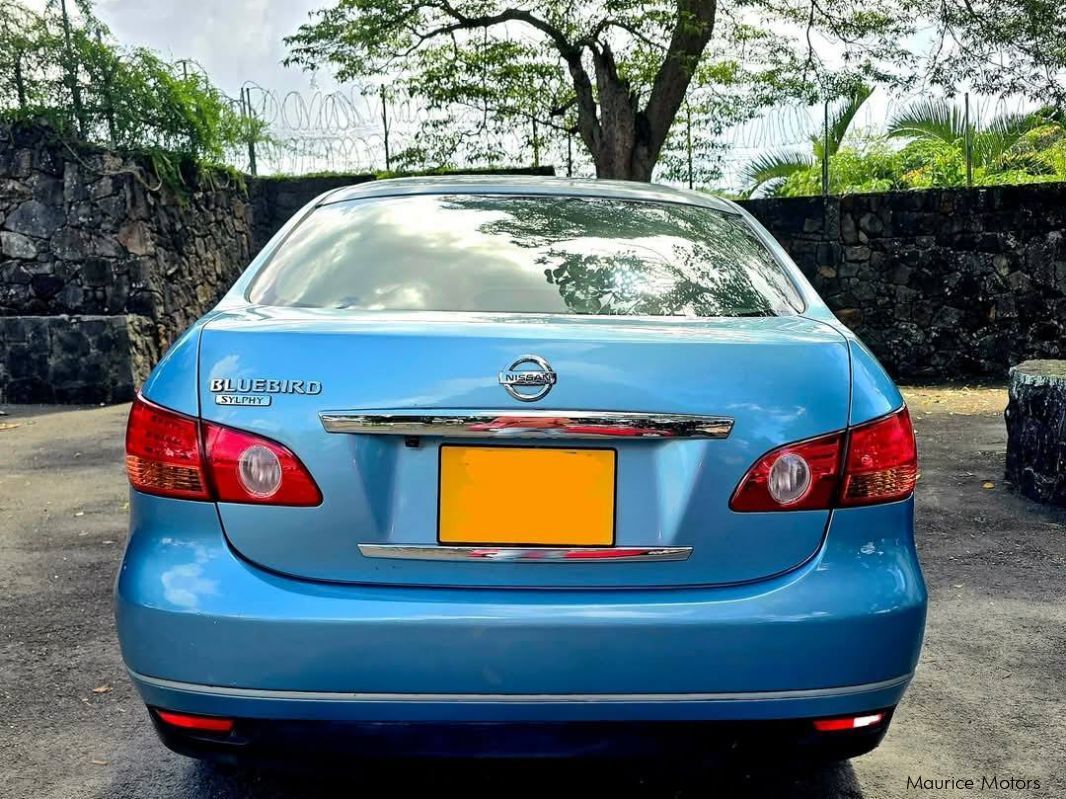
[[[133,507],[116,588],[123,654],[146,703],[187,713],[366,722],[843,715],[900,700],[924,626],[909,501],[837,511],[818,555],[786,575],[630,591],[296,581],[233,554],[211,505],[139,495]]]

